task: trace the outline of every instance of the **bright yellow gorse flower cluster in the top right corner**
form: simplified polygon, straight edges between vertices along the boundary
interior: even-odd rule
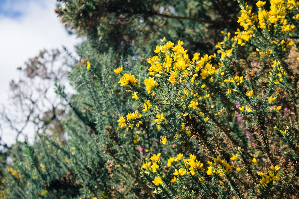
[[[235,36],[230,38],[231,33],[228,33],[224,38],[224,41],[219,42],[216,45],[216,48],[219,48],[217,51],[221,54],[221,58],[230,57],[232,49],[225,49],[225,41],[232,41],[234,44],[231,47],[236,47],[236,44],[244,46],[246,42],[253,37],[258,29],[266,30],[267,32],[278,34],[280,33],[289,33],[292,36],[292,32],[295,31],[295,22],[287,20],[288,14],[294,15],[292,19],[299,20],[298,10],[295,10],[299,6],[299,2],[295,0],[270,0],[270,9],[266,8],[266,1],[258,1],[256,3],[258,7],[258,13],[255,14],[252,12],[252,7],[242,3],[240,4],[241,15],[238,17],[238,23],[244,28],[244,30],[237,29]],[[293,11],[295,10],[295,11]],[[274,30],[273,30],[274,29]],[[222,32],[224,33],[224,32]],[[266,36],[266,39],[270,39],[269,36]],[[276,39],[277,40],[277,39]],[[281,45],[283,50],[286,50],[286,47],[295,46],[292,41],[283,39],[280,41],[271,41],[274,45]],[[296,48],[297,49],[297,48]],[[259,50],[259,49],[257,49]],[[298,50],[298,49],[297,49]],[[272,54],[272,50],[266,50],[267,56]],[[259,51],[259,54],[262,55],[264,52]]]

